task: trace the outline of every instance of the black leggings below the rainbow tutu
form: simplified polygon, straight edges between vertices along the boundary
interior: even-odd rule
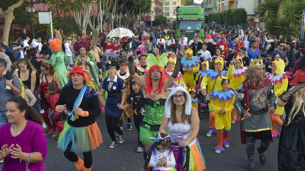
[[[72,146],[72,141],[69,143],[66,151],[63,152],[65,157],[70,160],[70,162],[77,162],[78,157],[74,152],[71,152],[71,146]],[[83,152],[84,155],[84,166],[85,168],[89,169],[92,166],[92,154],[90,152]]]

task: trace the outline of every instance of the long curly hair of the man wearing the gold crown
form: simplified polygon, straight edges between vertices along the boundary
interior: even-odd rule
[[[245,74],[245,79],[247,80],[247,84],[250,85],[251,87],[261,87],[264,85],[264,80],[267,77],[267,75],[265,74],[265,70],[264,70],[264,74],[262,78],[257,78],[256,76],[256,67],[248,67],[247,72]],[[259,82],[257,84],[257,80],[259,79]]]

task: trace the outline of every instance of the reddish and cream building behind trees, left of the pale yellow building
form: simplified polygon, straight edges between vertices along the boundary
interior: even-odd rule
[[[162,1],[163,0],[151,0],[152,5],[150,8],[150,13],[145,13],[145,16],[141,16],[141,19],[146,22],[146,26],[151,26],[153,25],[155,19],[159,16],[162,15]]]

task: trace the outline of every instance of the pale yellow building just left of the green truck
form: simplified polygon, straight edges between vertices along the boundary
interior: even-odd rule
[[[181,6],[181,0],[165,0],[163,3],[163,16],[167,18],[167,21],[173,22],[176,20],[176,8]]]

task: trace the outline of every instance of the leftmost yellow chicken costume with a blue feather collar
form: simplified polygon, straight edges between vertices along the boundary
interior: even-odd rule
[[[192,68],[192,72],[184,72],[184,83],[186,85],[196,86],[196,81],[194,79],[194,73],[199,71],[199,61],[197,56],[192,56],[192,58],[187,58],[186,54],[193,55],[192,47],[188,48],[185,52],[185,56],[181,58],[181,64],[183,69]]]

